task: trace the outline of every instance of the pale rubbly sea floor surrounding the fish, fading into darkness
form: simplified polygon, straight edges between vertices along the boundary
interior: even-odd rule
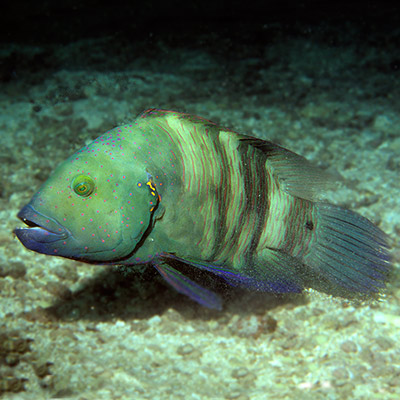
[[[265,29],[273,39],[254,45],[217,45],[207,32],[191,47],[118,36],[0,46],[2,398],[400,398],[400,32],[382,46],[351,25],[336,36]],[[155,271],[26,250],[16,214],[55,166],[151,107],[340,174],[326,199],[390,237],[394,272],[380,300],[221,286],[224,308],[212,311]]]

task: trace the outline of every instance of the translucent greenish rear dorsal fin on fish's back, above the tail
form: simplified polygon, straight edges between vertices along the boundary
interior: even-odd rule
[[[261,150],[267,157],[274,176],[288,194],[315,200],[321,192],[332,188],[339,177],[316,167],[304,157],[267,140],[242,137],[241,142]]]

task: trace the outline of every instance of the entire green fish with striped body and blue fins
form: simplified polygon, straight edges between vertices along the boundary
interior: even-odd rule
[[[42,254],[153,267],[211,309],[221,310],[221,297],[183,266],[276,294],[379,295],[391,272],[388,237],[322,201],[334,186],[332,174],[277,144],[152,108],[62,162],[14,233]]]

